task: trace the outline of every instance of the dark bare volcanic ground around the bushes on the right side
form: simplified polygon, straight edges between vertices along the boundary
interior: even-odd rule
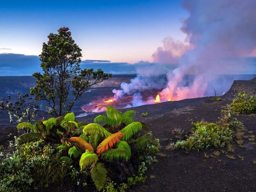
[[[195,98],[174,102],[165,102],[154,105],[140,106],[135,109],[138,113],[136,120],[149,125],[155,138],[160,140],[160,153],[158,162],[149,166],[146,172],[147,180],[143,184],[137,184],[131,191],[256,191],[256,164],[252,161],[256,159],[255,141],[243,138],[244,148],[236,145],[234,139],[235,152],[220,153],[218,157],[211,157],[214,150],[207,149],[199,151],[184,150],[168,151],[165,149],[169,143],[176,141],[173,130],[180,128],[184,132],[189,132],[191,122],[208,121],[216,122],[221,116],[221,110],[226,104],[231,102],[232,95],[238,87],[246,85],[243,89],[247,92],[256,93],[256,78],[250,81],[235,81],[230,91],[222,96],[220,102],[212,101],[211,98]],[[125,111],[125,110],[124,110]],[[142,112],[148,111],[147,117],[141,117]],[[92,122],[94,117],[80,117],[78,120]],[[256,136],[256,114],[239,115],[236,117],[244,123],[247,131],[244,135]],[[0,132],[0,145],[6,145],[9,133],[16,134],[14,127],[2,126]],[[204,152],[210,157],[204,158]],[[235,160],[227,155],[233,155]],[[244,156],[241,160],[238,155]],[[66,184],[52,186],[44,191],[72,191]]]

